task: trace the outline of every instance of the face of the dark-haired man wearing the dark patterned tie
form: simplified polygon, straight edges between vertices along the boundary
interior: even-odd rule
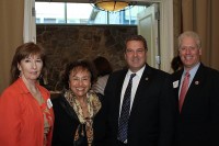
[[[147,50],[141,41],[126,43],[125,59],[132,72],[140,70],[146,64]]]

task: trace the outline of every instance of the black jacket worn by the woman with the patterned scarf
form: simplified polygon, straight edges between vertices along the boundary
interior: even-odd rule
[[[70,106],[70,104],[62,94],[60,94],[60,97],[57,97],[56,99],[53,99],[51,102],[55,113],[51,146],[73,146],[74,134],[80,123],[79,119],[73,108]],[[99,126],[99,123],[95,122],[100,119],[100,113],[102,113],[102,110],[99,111],[99,113],[94,116],[93,121],[94,138],[96,136],[95,139],[100,137],[99,135],[102,135],[102,130],[100,128],[101,126]]]

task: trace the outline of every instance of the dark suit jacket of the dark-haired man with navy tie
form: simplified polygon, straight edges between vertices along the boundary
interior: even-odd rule
[[[118,146],[120,92],[126,74],[113,72],[105,88],[104,146]],[[175,106],[169,79],[166,72],[146,65],[129,116],[128,146],[172,146]]]

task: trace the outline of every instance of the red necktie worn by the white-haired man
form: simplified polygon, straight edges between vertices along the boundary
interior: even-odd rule
[[[191,77],[189,72],[186,72],[185,77],[184,77],[184,80],[183,80],[182,88],[181,88],[180,99],[178,99],[178,109],[180,109],[180,112],[181,112],[182,106],[183,106],[185,94],[186,94],[186,92],[188,90],[189,77]]]

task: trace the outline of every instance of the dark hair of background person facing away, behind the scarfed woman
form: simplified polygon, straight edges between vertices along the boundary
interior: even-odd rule
[[[102,56],[96,57],[93,60],[93,64],[95,65],[97,76],[105,76],[113,71],[110,61],[105,57]]]

